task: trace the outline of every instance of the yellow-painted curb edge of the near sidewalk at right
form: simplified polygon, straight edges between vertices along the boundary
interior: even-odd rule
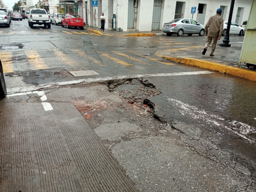
[[[201,68],[206,68],[210,69],[213,71],[218,71],[221,73],[226,73],[229,75],[237,76],[237,77],[242,77],[244,79],[248,79],[251,81],[256,81],[256,72],[255,71],[250,71],[246,69],[241,69],[241,68],[236,68],[236,67],[231,67],[227,65],[222,65],[219,63],[213,63],[210,61],[204,61],[204,60],[199,60],[199,59],[192,59],[192,58],[179,58],[179,57],[166,57],[160,54],[157,54],[157,56],[167,59],[167,60],[172,60],[177,63],[183,63],[187,65],[192,65],[196,67],[201,67]]]

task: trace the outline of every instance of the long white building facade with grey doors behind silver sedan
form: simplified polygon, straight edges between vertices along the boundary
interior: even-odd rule
[[[60,0],[61,1],[61,0]],[[78,1],[78,0],[77,0]],[[116,14],[116,28],[123,31],[161,30],[164,23],[177,18],[192,18],[191,8],[196,7],[193,19],[205,25],[209,17],[222,8],[222,17],[228,20],[231,0],[82,0],[84,22],[100,28],[100,15],[106,16],[105,28],[112,28],[112,14]],[[252,0],[236,0],[232,21],[241,25],[248,19]],[[80,10],[79,6],[79,10]]]

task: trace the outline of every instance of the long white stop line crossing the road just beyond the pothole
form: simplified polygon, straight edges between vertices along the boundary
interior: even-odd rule
[[[31,86],[31,87],[13,87],[7,89],[9,94],[15,92],[29,92],[35,91],[38,89],[49,88],[55,85],[71,85],[71,84],[90,84],[96,82],[104,82],[109,80],[118,80],[118,79],[128,79],[128,78],[140,78],[140,77],[157,77],[157,76],[182,76],[182,75],[203,75],[203,74],[213,74],[210,71],[193,71],[193,72],[180,72],[180,73],[157,73],[157,74],[141,74],[141,75],[124,75],[124,76],[111,76],[111,77],[103,77],[103,78],[88,78],[88,79],[79,79],[73,81],[64,81],[64,82],[57,82],[57,83],[48,83],[48,84],[41,84],[39,86]]]

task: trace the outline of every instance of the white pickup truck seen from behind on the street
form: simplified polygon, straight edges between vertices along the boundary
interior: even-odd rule
[[[44,25],[51,28],[50,15],[44,9],[30,9],[28,14],[28,26],[33,28],[33,25]]]

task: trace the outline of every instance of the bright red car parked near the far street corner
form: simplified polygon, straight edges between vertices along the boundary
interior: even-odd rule
[[[79,27],[82,30],[84,29],[84,20],[77,14],[66,14],[62,17],[61,20],[61,27],[67,26],[69,27]]]

